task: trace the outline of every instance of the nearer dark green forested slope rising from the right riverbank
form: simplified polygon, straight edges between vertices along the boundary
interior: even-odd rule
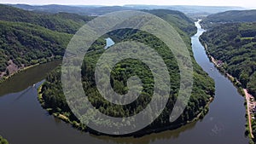
[[[224,71],[256,96],[256,23],[228,23],[203,33],[202,43]]]

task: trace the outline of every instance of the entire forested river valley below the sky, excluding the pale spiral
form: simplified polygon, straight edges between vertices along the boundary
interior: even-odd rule
[[[160,37],[148,32],[125,28],[105,33],[90,46],[81,65],[84,94],[89,95],[97,111],[113,118],[127,118],[148,107],[154,94],[152,70],[140,60],[126,59],[113,67],[109,83],[117,94],[125,95],[129,91],[128,79],[137,76],[142,81],[142,93],[127,105],[117,105],[102,97],[95,82],[96,65],[116,43],[135,41],[148,45],[163,59],[171,79],[166,106],[153,123],[131,134],[108,135],[81,123],[73,114],[63,94],[61,63],[81,26],[103,14],[121,10],[153,14],[173,27],[191,57],[193,89],[182,115],[171,122],[169,118],[181,88],[178,74],[181,69],[172,51]],[[254,15],[255,10],[241,7],[0,4],[0,144],[253,144]],[[114,59],[114,55],[108,58]],[[161,89],[164,88],[158,90]],[[82,108],[84,112],[88,110],[85,105]],[[90,119],[97,117],[90,112]],[[131,119],[127,125],[132,122]],[[97,119],[96,124],[119,127],[118,123],[102,119]]]

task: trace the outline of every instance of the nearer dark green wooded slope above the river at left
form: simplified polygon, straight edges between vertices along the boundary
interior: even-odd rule
[[[0,20],[0,72],[6,70],[9,60],[21,67],[57,58],[64,54],[71,37],[41,26]]]

